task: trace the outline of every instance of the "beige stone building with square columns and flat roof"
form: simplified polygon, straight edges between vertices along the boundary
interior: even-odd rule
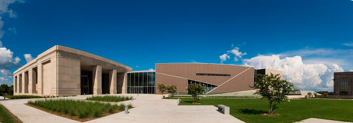
[[[113,60],[56,45],[13,72],[14,95],[126,93],[128,71]]]

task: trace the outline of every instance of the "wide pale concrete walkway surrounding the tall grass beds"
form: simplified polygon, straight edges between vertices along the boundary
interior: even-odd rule
[[[117,94],[133,96],[134,100],[118,102],[132,104],[135,108],[130,109],[128,114],[119,112],[110,116],[98,118],[87,123],[244,123],[231,115],[223,115],[217,111],[215,106],[178,106],[177,100],[161,99],[161,95],[146,94]],[[83,100],[91,95],[60,97],[53,99],[78,99]],[[0,101],[8,110],[16,115],[24,123],[79,123],[71,119],[52,115],[50,113],[24,105],[28,100],[37,99],[14,99]],[[43,99],[40,99],[43,100]]]

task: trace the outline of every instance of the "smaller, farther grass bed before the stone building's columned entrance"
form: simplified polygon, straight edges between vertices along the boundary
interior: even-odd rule
[[[93,96],[87,98],[87,100],[92,101],[104,101],[104,102],[121,102],[126,100],[131,100],[131,96]]]

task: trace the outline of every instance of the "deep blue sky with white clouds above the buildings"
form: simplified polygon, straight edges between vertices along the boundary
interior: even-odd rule
[[[179,62],[277,69],[297,88],[313,90],[332,91],[333,72],[353,69],[351,0],[0,4],[0,83],[12,84],[9,75],[26,64],[24,54],[36,57],[54,45],[97,54],[133,70]]]

